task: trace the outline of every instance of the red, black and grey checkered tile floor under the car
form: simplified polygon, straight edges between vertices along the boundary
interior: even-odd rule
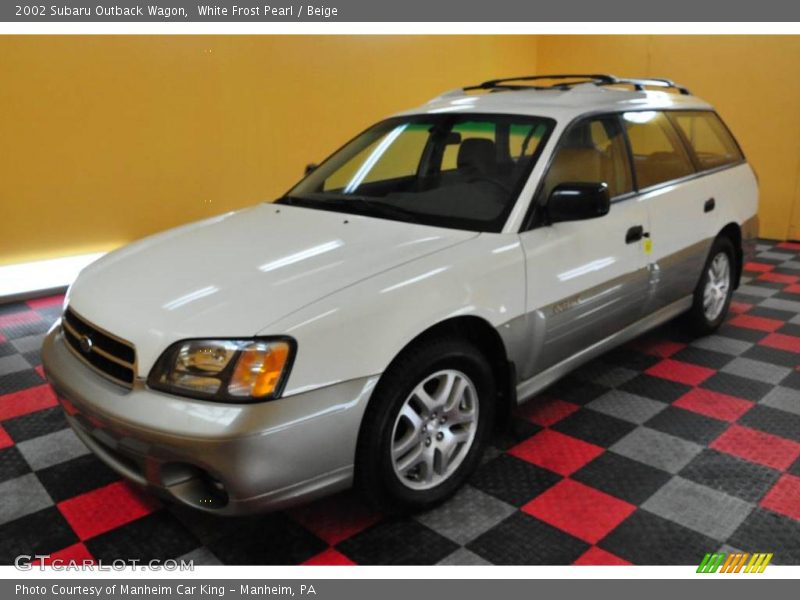
[[[800,564],[800,244],[759,245],[731,316],[674,324],[526,405],[454,499],[387,519],[352,493],[223,519],[164,505],[67,429],[42,377],[61,298],[0,306],[0,564],[18,554],[196,564]]]

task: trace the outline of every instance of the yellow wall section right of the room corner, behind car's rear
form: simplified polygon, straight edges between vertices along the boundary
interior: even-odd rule
[[[668,77],[711,102],[755,167],[761,235],[800,239],[800,36],[542,36],[542,73]]]

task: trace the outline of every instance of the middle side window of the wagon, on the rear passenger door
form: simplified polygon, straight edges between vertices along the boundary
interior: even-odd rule
[[[686,148],[663,112],[624,113],[639,189],[694,173]]]

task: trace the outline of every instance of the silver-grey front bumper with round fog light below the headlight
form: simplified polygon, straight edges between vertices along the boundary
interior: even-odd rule
[[[256,404],[122,388],[72,355],[59,325],[42,347],[67,421],[101,460],[151,491],[215,514],[285,508],[352,484],[377,377]]]

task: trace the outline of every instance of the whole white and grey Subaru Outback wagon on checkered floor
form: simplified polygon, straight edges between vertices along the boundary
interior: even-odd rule
[[[190,506],[355,483],[424,508],[515,403],[682,313],[718,327],[757,196],[668,80],[490,81],[367,129],[275,203],[97,261],[44,366],[89,448]]]

